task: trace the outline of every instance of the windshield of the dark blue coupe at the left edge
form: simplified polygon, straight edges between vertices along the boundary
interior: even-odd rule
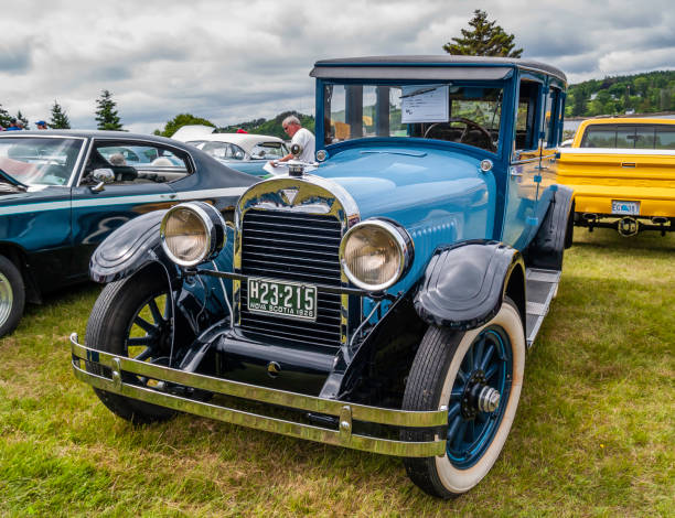
[[[0,169],[25,185],[66,185],[83,145],[81,139],[0,139]]]

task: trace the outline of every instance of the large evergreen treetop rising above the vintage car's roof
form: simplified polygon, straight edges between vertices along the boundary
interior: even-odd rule
[[[462,29],[462,37],[453,37],[454,43],[446,43],[443,51],[460,56],[521,57],[523,48],[516,48],[514,35],[506,34],[495,21],[488,20],[488,13],[476,9],[469,21],[473,29]]]

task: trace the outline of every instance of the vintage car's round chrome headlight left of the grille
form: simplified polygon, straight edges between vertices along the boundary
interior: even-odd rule
[[[225,245],[225,220],[204,202],[171,207],[160,225],[162,248],[176,265],[193,267],[212,260]]]

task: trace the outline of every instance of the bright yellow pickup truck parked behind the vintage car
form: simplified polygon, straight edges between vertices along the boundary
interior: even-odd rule
[[[575,191],[575,225],[675,231],[675,120],[585,120],[561,148],[558,180]]]

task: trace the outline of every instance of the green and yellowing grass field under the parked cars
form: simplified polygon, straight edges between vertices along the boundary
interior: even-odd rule
[[[116,418],[68,361],[97,293],[0,341],[0,516],[675,516],[675,236],[577,230],[504,452],[453,501],[397,458]]]

